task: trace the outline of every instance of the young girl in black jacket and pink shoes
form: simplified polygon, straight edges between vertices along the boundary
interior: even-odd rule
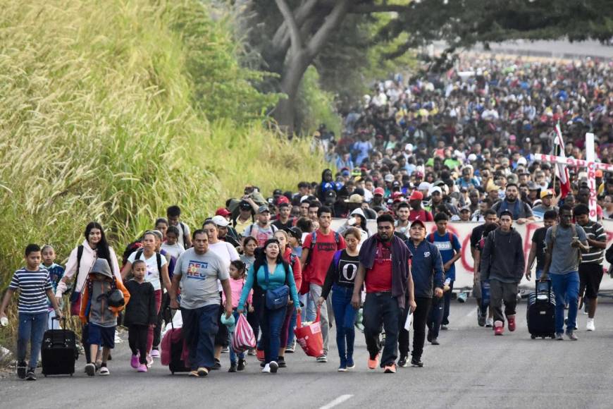
[[[157,320],[154,287],[144,281],[147,264],[143,260],[132,263],[133,279],[125,284],[130,303],[125,307],[123,323],[128,327],[128,343],[132,350],[130,365],[138,372],[147,372],[147,331]]]

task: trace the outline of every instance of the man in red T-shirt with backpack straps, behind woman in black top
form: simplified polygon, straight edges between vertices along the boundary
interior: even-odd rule
[[[313,300],[321,297],[321,288],[326,279],[326,273],[337,250],[343,250],[345,239],[330,228],[332,209],[320,207],[317,212],[319,228],[309,234],[302,243],[300,262],[304,266],[303,280],[309,283],[309,295]],[[304,292],[304,291],[303,291]],[[317,362],[328,362],[328,305],[321,305],[321,335],[323,336],[323,355],[317,357]]]

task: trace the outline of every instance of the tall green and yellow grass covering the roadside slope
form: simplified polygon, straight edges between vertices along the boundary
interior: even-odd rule
[[[90,220],[122,250],[170,204],[197,226],[245,183],[318,178],[307,141],[261,125],[275,96],[207,7],[0,0],[1,283],[27,243],[61,261]]]

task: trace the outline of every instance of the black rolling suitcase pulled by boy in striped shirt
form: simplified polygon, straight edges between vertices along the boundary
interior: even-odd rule
[[[56,318],[52,319],[53,323]],[[42,338],[42,374],[70,375],[75,373],[75,360],[78,358],[75,333],[66,329],[66,318],[63,319],[63,329],[49,329]]]

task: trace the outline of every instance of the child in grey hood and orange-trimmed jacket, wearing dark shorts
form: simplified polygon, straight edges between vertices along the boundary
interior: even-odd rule
[[[123,300],[116,300],[116,290],[121,291]],[[130,300],[130,293],[117,279],[106,259],[97,259],[87,276],[85,290],[81,295],[79,318],[83,324],[89,322],[89,360],[85,372],[93,377],[96,374],[95,359],[99,346],[102,347],[100,374],[111,374],[106,367],[111,349],[115,348],[115,327],[117,315]],[[123,301],[123,302],[121,302]]]

